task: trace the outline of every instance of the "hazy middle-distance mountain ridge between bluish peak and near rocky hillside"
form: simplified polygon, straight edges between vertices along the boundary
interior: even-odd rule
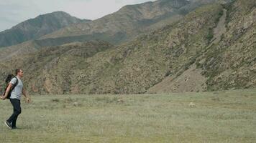
[[[198,6],[216,0],[158,0],[128,5],[86,24],[73,24],[37,39],[42,46],[56,46],[73,41],[101,39],[121,44],[140,34],[154,31],[181,19]]]

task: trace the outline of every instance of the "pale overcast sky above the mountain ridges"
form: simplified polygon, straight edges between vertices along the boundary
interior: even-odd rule
[[[0,0],[0,31],[53,11],[65,11],[80,19],[93,20],[111,14],[124,5],[145,1],[150,0]]]

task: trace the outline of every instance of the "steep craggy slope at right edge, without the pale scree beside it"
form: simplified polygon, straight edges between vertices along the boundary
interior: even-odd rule
[[[208,90],[256,87],[256,1],[227,6],[227,32],[198,59]]]

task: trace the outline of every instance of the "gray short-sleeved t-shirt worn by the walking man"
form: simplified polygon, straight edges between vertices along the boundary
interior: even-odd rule
[[[23,84],[22,84],[22,80],[19,79],[19,77],[17,77],[17,79],[19,80],[19,83],[18,83],[17,86],[12,90],[10,99],[19,99],[19,100],[20,100],[21,97],[22,97]],[[13,78],[10,83],[11,83],[12,85],[16,84],[17,79],[16,79],[16,78]]]

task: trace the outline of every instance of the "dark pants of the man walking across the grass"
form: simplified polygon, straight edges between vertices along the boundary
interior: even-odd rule
[[[14,107],[14,113],[12,114],[7,121],[12,124],[12,127],[16,127],[16,121],[19,116],[19,114],[22,113],[22,108],[20,107],[20,101],[19,99],[10,99],[10,102],[12,103],[12,106]]]

